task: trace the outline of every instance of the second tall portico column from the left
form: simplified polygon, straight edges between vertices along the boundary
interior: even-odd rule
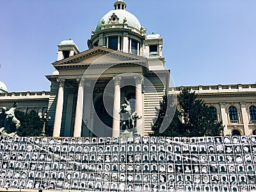
[[[77,81],[79,82],[79,88],[78,88],[77,102],[76,102],[74,137],[81,137],[83,106],[84,106],[84,83],[83,83],[83,80],[81,81],[81,79],[77,79]]]

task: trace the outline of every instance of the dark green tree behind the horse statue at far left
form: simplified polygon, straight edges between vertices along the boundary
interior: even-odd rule
[[[31,113],[15,111],[15,116],[20,120],[20,127],[17,131],[19,136],[40,136],[43,123],[35,111],[31,111]]]

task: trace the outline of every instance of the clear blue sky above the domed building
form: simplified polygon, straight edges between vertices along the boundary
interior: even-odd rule
[[[115,0],[1,0],[0,81],[9,92],[49,90],[57,45],[80,51]],[[255,83],[255,0],[127,0],[147,34],[163,37],[176,86]]]

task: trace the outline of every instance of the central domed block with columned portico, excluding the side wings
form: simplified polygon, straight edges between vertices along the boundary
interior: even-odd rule
[[[48,114],[52,136],[120,136],[124,97],[131,103],[132,113],[136,111],[140,117],[138,134],[150,130],[159,105],[150,102],[150,97],[159,99],[166,93],[170,72],[164,69],[161,36],[146,36],[146,29],[126,6],[124,1],[116,1],[115,10],[99,20],[87,51],[79,52],[71,38],[58,45],[58,61],[52,63],[55,71],[47,76],[51,81]],[[150,83],[146,85],[144,79]]]

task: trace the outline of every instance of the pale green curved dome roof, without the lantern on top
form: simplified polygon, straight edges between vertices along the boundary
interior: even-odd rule
[[[116,19],[118,19],[116,22],[111,22],[111,17],[116,16]],[[99,31],[102,26],[104,25],[115,25],[115,24],[127,24],[128,27],[135,28],[138,31],[141,30],[141,24],[140,21],[132,15],[132,13],[127,12],[126,10],[111,10],[110,12],[106,13],[104,15],[99,23],[97,24],[97,27],[95,28],[95,32]],[[120,27],[118,27],[120,28]]]

